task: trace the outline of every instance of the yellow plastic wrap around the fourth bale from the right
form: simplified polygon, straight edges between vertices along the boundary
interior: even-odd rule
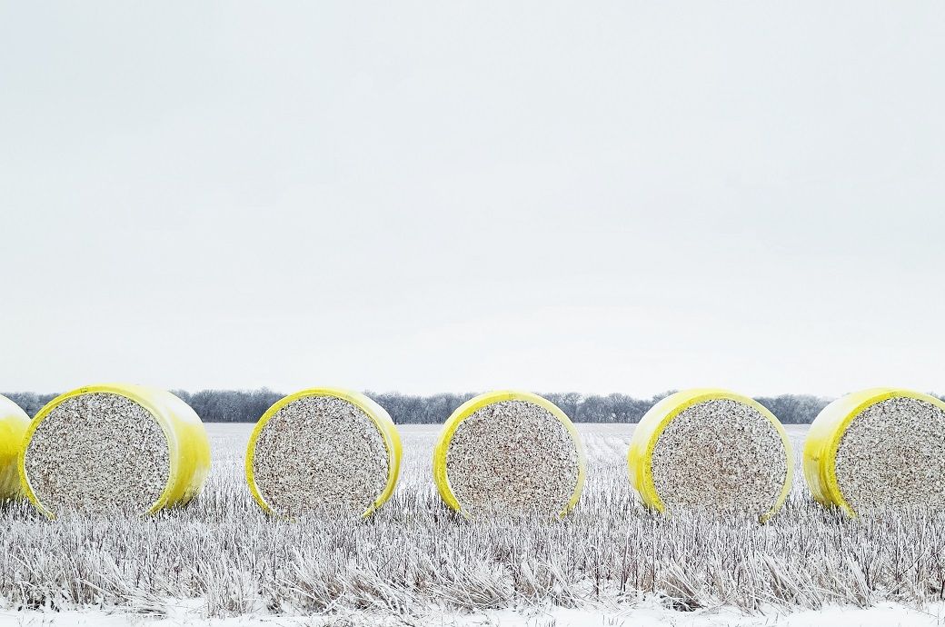
[[[390,417],[390,414],[387,413],[387,409],[382,408],[370,399],[369,396],[361,392],[353,392],[341,388],[311,388],[283,396],[283,398],[273,403],[272,407],[266,409],[266,413],[259,419],[256,426],[252,428],[252,433],[249,436],[249,444],[246,449],[245,469],[249,492],[266,514],[279,515],[269,507],[269,504],[266,503],[266,499],[263,497],[262,493],[260,493],[259,487],[256,485],[256,479],[252,471],[252,460],[256,451],[256,441],[259,439],[260,433],[263,432],[263,427],[266,427],[266,423],[269,422],[277,411],[283,409],[283,407],[289,403],[307,396],[333,396],[347,401],[368,414],[374,426],[381,432],[381,436],[384,438],[384,445],[387,448],[387,484],[384,486],[384,490],[381,494],[378,495],[377,498],[374,499],[374,502],[371,503],[370,507],[365,510],[364,514],[361,514],[364,518],[369,517],[370,514],[373,514],[378,508],[384,505],[387,499],[394,493],[394,488],[397,486],[397,479],[400,477],[401,473],[403,446],[401,445],[401,436],[397,430],[397,426],[394,425],[394,421]]]

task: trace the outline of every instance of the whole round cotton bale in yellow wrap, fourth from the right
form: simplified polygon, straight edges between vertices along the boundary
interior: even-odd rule
[[[401,438],[362,393],[304,390],[266,410],[249,438],[249,491],[268,514],[369,516],[394,491]]]

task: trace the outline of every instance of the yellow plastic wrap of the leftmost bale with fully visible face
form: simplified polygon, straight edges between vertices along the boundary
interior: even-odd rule
[[[36,509],[47,518],[56,517],[43,506],[29,484],[29,477],[26,474],[26,447],[43,419],[60,403],[74,396],[94,392],[118,394],[141,405],[154,416],[167,439],[170,460],[167,484],[161,496],[147,509],[146,514],[156,514],[172,505],[185,505],[197,496],[210,472],[210,441],[194,409],[165,390],[125,383],[107,383],[86,386],[60,394],[40,409],[26,428],[26,435],[19,452],[20,484]]]

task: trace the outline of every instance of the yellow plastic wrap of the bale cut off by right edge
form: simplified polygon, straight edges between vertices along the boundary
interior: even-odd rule
[[[864,409],[897,397],[915,398],[945,411],[945,403],[935,396],[900,388],[869,388],[841,396],[817,414],[804,440],[803,453],[804,479],[817,502],[835,505],[844,514],[856,517],[836,480],[837,449],[853,419]]]

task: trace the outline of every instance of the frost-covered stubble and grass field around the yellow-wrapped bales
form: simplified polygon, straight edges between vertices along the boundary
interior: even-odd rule
[[[175,599],[211,617],[376,610],[412,619],[654,600],[679,610],[919,606],[945,594],[945,517],[845,520],[810,500],[800,473],[764,526],[646,512],[627,481],[630,426],[579,426],[587,483],[563,521],[457,518],[429,475],[438,427],[402,427],[402,480],[379,514],[300,524],[267,519],[249,496],[249,426],[209,427],[214,471],[185,509],[50,523],[25,504],[3,506],[2,602],[162,615]],[[797,451],[802,432],[792,432]]]

